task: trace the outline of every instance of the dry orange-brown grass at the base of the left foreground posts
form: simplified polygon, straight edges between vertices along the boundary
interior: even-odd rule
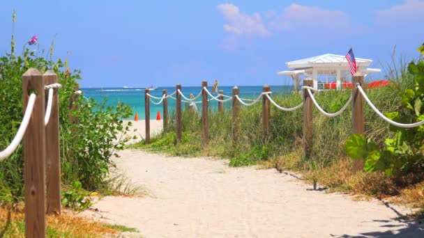
[[[24,237],[24,233],[22,207],[0,207],[0,237]],[[71,212],[47,216],[47,237],[104,237],[118,233],[110,225],[84,219]]]

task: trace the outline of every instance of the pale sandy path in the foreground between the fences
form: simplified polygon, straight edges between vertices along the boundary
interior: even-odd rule
[[[93,207],[104,221],[135,227],[143,237],[424,237],[396,219],[405,208],[311,191],[276,170],[132,150],[121,155],[118,166],[151,196],[107,197]]]

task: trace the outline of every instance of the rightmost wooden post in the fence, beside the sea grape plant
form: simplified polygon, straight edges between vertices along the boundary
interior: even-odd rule
[[[363,118],[363,95],[356,88],[356,83],[363,85],[363,75],[357,72],[353,77],[354,86],[352,87],[352,133],[364,133],[364,118]],[[362,159],[354,159],[353,173],[363,170],[364,161]]]

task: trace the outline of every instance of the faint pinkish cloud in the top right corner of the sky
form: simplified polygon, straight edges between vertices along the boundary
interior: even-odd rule
[[[424,19],[423,0],[404,0],[403,5],[391,6],[388,10],[378,10],[377,26],[405,26],[407,23],[417,24]],[[402,28],[403,29],[403,28]]]

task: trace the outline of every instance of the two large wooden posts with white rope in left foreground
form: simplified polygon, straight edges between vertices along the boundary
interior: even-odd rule
[[[3,161],[23,140],[26,237],[45,237],[45,214],[61,214],[59,88],[52,70],[42,74],[31,68],[22,75],[24,116],[13,140],[0,151]]]

